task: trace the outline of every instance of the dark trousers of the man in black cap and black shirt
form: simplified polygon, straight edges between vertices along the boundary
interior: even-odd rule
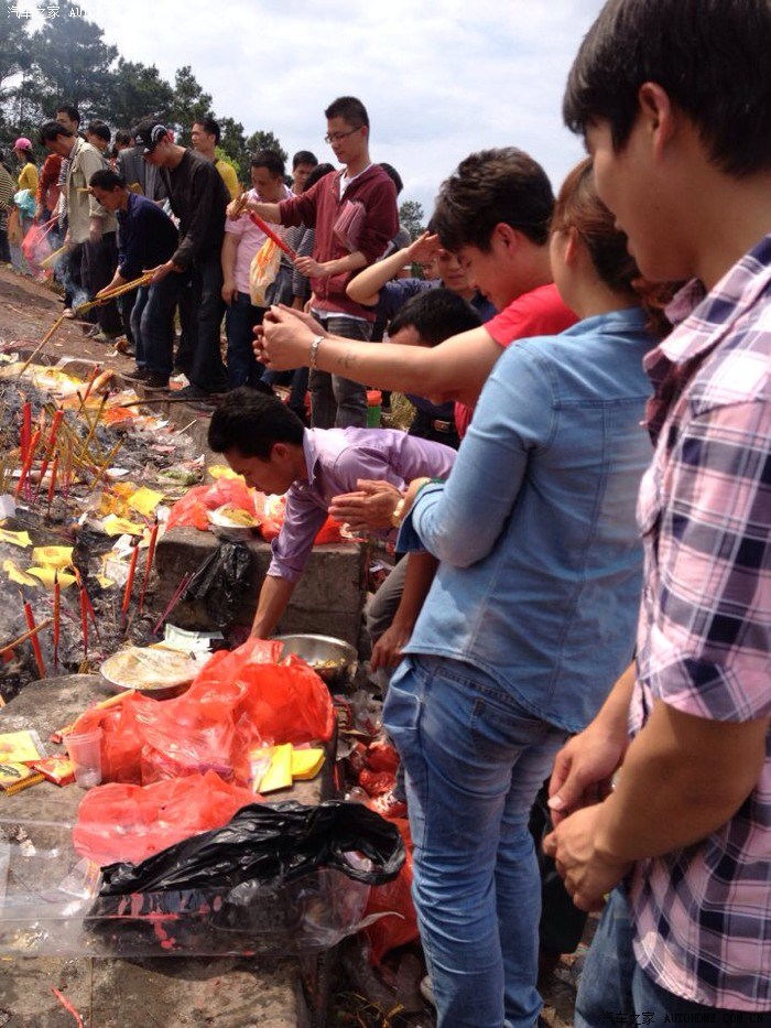
[[[219,328],[225,314],[222,266],[219,250],[198,257],[193,266],[193,306],[196,317],[191,327],[192,364],[187,378],[204,392],[224,392],[227,371],[219,346]]]

